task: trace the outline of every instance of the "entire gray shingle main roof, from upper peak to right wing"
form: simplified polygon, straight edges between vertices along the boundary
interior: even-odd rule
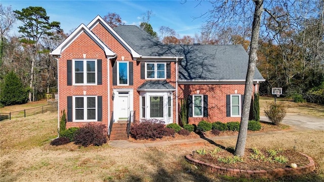
[[[164,45],[135,25],[116,33],[142,56],[182,56],[180,80],[245,80],[249,56],[241,45]],[[255,80],[264,80],[255,69]]]

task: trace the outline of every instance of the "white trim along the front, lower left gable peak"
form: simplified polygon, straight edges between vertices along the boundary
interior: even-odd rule
[[[99,38],[85,25],[80,24],[70,35],[68,38],[66,38],[54,51],[52,51],[51,55],[60,56],[61,53],[76,39],[79,37],[79,35],[85,32],[87,35],[105,52],[106,56],[114,56],[116,55],[114,52],[112,52],[106,45],[103,44],[99,40]]]

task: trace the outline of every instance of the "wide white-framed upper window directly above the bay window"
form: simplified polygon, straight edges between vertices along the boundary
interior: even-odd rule
[[[145,63],[146,79],[167,79],[166,63]]]

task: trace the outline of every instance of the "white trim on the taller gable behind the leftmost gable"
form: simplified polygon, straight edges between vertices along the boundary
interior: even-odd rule
[[[138,54],[136,51],[132,49],[130,45],[128,45],[121,37],[113,30],[104,19],[101,18],[101,16],[97,16],[95,19],[93,19],[87,27],[92,30],[98,23],[101,23],[107,30],[111,31],[118,39],[121,41],[130,51],[134,58],[139,58],[141,55]]]

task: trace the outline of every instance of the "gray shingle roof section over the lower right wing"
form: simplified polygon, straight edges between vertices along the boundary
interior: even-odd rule
[[[245,80],[249,56],[241,45],[179,45],[180,80]],[[180,54],[180,53],[179,53]],[[263,80],[258,69],[254,79]]]

